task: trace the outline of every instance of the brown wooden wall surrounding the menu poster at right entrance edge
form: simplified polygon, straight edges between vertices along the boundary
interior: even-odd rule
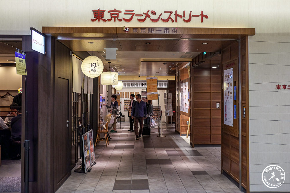
[[[222,69],[233,68],[233,77],[234,77],[234,86],[237,86],[237,100],[233,101],[234,105],[237,105],[237,119],[234,119],[234,126],[224,125],[223,122],[223,100],[221,103],[221,122],[222,122],[222,170],[228,173],[233,179],[239,182],[239,147],[240,141],[238,136],[239,130],[239,113],[242,112],[242,109],[239,109],[239,70],[241,70],[241,100],[240,103],[242,106],[246,106],[246,113],[249,109],[249,71],[248,71],[248,37],[243,38],[241,41],[241,69],[238,67],[239,61],[239,47],[238,41],[229,45],[227,48],[222,50]],[[225,66],[225,64],[235,62],[233,66]],[[222,73],[223,76],[223,73]],[[236,77],[236,78],[235,78]],[[222,78],[223,80],[223,78]],[[223,94],[221,93],[221,98]],[[214,104],[211,104],[212,106]],[[242,186],[247,189],[247,184],[249,184],[249,120],[248,117],[242,118],[240,120],[242,123]],[[230,155],[229,155],[230,154]],[[230,160],[229,160],[230,159]],[[228,162],[230,161],[230,165]],[[246,175],[246,176],[245,176]]]

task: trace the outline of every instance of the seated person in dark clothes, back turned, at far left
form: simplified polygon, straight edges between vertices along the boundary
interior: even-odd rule
[[[11,137],[13,153],[16,157],[13,159],[21,159],[21,107],[17,109],[18,115],[11,119]]]

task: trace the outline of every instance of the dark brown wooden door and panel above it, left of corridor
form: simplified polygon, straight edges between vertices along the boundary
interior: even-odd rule
[[[56,191],[71,171],[71,57],[70,50],[55,42],[55,95],[53,176]]]

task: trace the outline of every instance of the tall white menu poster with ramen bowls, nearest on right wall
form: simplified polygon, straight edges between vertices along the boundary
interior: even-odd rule
[[[224,124],[233,126],[233,68],[224,70]]]

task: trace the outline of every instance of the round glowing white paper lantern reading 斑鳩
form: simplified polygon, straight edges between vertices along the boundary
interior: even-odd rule
[[[97,56],[88,56],[81,63],[81,71],[84,75],[95,78],[101,75],[104,69],[104,64]]]

